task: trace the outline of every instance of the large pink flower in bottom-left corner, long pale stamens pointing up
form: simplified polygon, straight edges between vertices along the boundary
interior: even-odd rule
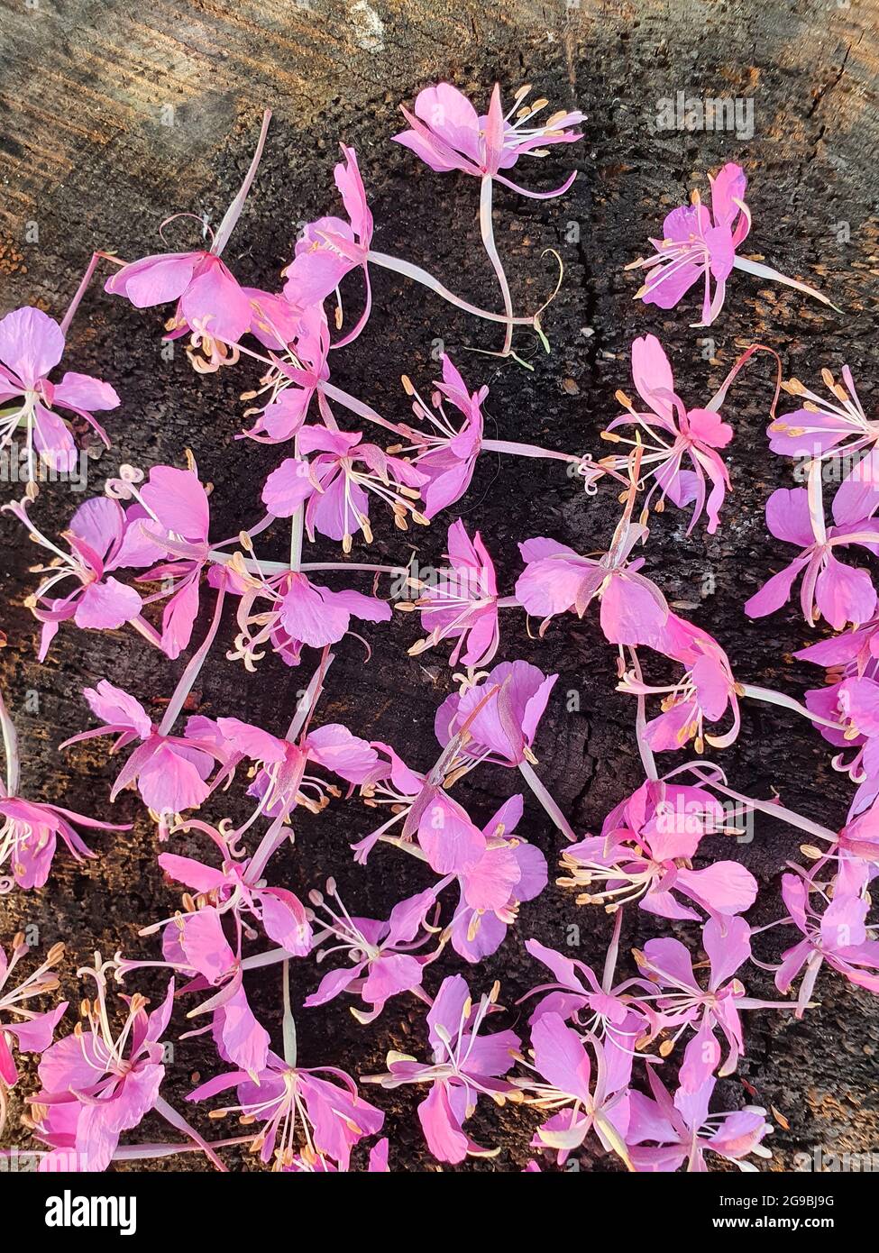
[[[109,964],[108,964],[109,965]],[[38,1110],[35,1134],[69,1169],[74,1155],[82,1170],[105,1170],[123,1131],[135,1128],[159,1103],[164,1079],[159,1042],[174,997],[173,980],[162,1005],[147,1014],[139,994],[123,997],[127,1014],[114,1034],[107,1005],[108,966],[97,964],[88,974],[95,980],[94,1002],[88,1005],[84,1030],[53,1044],[39,1066],[43,1090],[33,1099]]]

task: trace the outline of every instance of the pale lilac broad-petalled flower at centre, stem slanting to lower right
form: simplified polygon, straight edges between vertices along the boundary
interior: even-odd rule
[[[463,753],[470,759],[518,766],[534,762],[532,744],[558,674],[544,675],[528,662],[503,662],[482,682],[453,693],[436,710],[434,729],[440,744],[448,744],[470,719],[492,688],[497,695],[468,723],[469,738]]]

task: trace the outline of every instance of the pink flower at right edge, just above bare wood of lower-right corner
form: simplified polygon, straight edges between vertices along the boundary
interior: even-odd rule
[[[860,866],[849,863],[846,873],[836,877],[833,896],[828,885],[803,871],[782,877],[781,896],[789,911],[782,921],[796,926],[804,938],[781,955],[775,986],[787,992],[797,975],[805,971],[796,997],[797,1017],[803,1017],[811,1000],[824,962],[850,984],[879,992],[879,940],[871,938],[875,927],[866,926],[868,881],[868,867],[863,862]]]

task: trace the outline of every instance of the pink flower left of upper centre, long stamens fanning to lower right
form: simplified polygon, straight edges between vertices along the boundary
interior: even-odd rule
[[[405,531],[408,519],[426,525],[415,501],[426,476],[400,457],[389,456],[375,444],[361,444],[362,434],[329,431],[305,426],[298,432],[298,450],[316,454],[310,461],[287,457],[272,470],[262,491],[262,502],[273,517],[292,517],[305,505],[305,528],[341,540],[345,553],[357,531],[369,544],[372,529],[369,495],[390,505],[394,523]]]

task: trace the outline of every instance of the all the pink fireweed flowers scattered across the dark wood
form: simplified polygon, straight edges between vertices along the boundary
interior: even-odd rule
[[[441,378],[424,395],[404,377],[411,411],[405,420],[382,416],[331,382],[334,352],[369,327],[375,267],[493,323],[502,357],[525,365],[514,348],[523,331],[549,348],[540,320],[552,293],[540,308],[514,308],[494,241],[493,189],[497,183],[525,197],[562,195],[573,173],[562,187],[543,190],[524,168],[539,167],[550,147],[577,142],[583,115],[547,115],[547,100],[528,99],[523,88],[505,108],[495,86],[480,115],[443,83],[421,91],[413,112],[403,110],[408,129],[395,137],[433,170],[478,179],[482,239],[500,311],[476,308],[420,267],[374,251],[357,157],[345,145],[335,169],[341,214],[305,227],[277,291],[242,287],[222,258],[257,174],[266,114],[247,177],[216,232],[208,232],[209,247],[125,263],[97,253],[60,323],[33,307],[0,321],[0,440],[24,437],[30,479],[24,497],[5,507],[41,550],[28,599],[40,624],[40,660],[59,630],[120,628],[173,659],[191,649],[201,611],[209,621],[162,702],[161,722],[110,675],[83,692],[85,729],[60,746],[94,738],[113,753],[118,773],[108,799],[137,791],[157,827],[169,900],[179,903],[142,928],[142,936],[154,937],[150,960],[95,954],[93,966],[78,972],[84,991],[75,1025],[66,1004],[53,1006],[50,997],[63,946],[41,961],[20,935],[0,949],[0,1121],[19,1083],[16,1055],[39,1054],[39,1090],[26,1098],[24,1121],[43,1169],[104,1170],[123,1159],[188,1152],[224,1170],[223,1150],[243,1146],[275,1170],[332,1172],[347,1170],[361,1145],[356,1167],[385,1172],[394,1145],[381,1138],[381,1089],[415,1085],[424,1138],[440,1163],[499,1152],[468,1130],[482,1101],[539,1113],[528,1170],[564,1163],[587,1140],[636,1172],[701,1172],[718,1159],[752,1170],[755,1158],[771,1155],[764,1145],[771,1131],[766,1110],[718,1110],[715,1101],[718,1078],[731,1075],[745,1054],[749,1015],[799,1017],[814,1004],[819,981],[831,977],[879,992],[879,941],[868,922],[879,862],[879,611],[870,574],[854,564],[863,550],[879,553],[879,421],[865,416],[848,368],[841,381],[824,371],[825,398],[799,380],[781,382],[779,363],[779,388],[767,406],[770,447],[805,459],[806,486],[776,491],[767,501],[769,530],[792,546],[791,561],[745,610],[752,618],[776,611],[799,580],[806,624],[824,619],[836,633],[799,654],[831,678],[805,693],[804,704],[734,674],[717,640],[672,611],[647,546],[653,520],[667,510],[682,510],[690,531],[703,525],[715,533],[721,525],[730,490],[724,455],[735,434],[724,406],[759,346],[713,396],[693,386],[685,400],[660,341],[636,338],[634,398],[617,392],[618,415],[602,432],[609,451],[597,457],[488,439],[488,388],[474,387],[448,356]],[[691,288],[701,289],[698,325],[707,326],[740,269],[829,303],[741,256],[751,229],[745,194],[744,172],[727,164],[711,179],[710,209],[693,192],[690,205],[670,213],[662,237],[651,241],[653,253],[633,262],[646,271],[637,297],[668,309]],[[189,454],[179,465],[123,465],[104,495],[82,504],[58,536],[44,534],[31,516],[39,462],[58,471],[78,456],[71,413],[109,447],[95,413],[113,415],[120,403],[114,388],[73,371],[59,376],[70,321],[99,266],[112,269],[104,284],[112,296],[137,308],[164,307],[166,338],[184,341],[197,371],[250,367],[258,376],[243,397],[239,439],[278,445],[277,464],[231,538],[212,528],[209,489]],[[346,299],[352,288],[355,304],[362,304],[354,325],[342,313],[342,287]],[[478,373],[475,358],[465,373]],[[782,392],[796,407],[779,413]],[[522,571],[512,588],[499,588],[490,538],[455,516],[483,452],[561,462],[584,496],[607,490],[618,501],[612,533],[591,553],[523,534]],[[828,502],[830,462],[845,472]],[[290,559],[282,563],[260,555],[261,535],[278,519],[290,523]],[[392,523],[409,531],[438,521],[448,528],[448,564],[429,585],[405,564],[360,560],[374,529]],[[303,559],[306,539],[317,535],[341,548],[340,560]],[[394,583],[406,589],[395,603]],[[222,640],[229,608],[234,632]],[[411,654],[435,649],[454,669],[455,690],[436,709],[436,756],[426,769],[405,762],[403,746],[369,742],[321,715],[334,648],[347,647],[355,632],[389,629],[395,609],[420,620],[421,634],[403,647]],[[563,614],[594,621],[616,653],[618,689],[633,698],[643,782],[598,833],[572,828],[533,751],[557,675],[523,660],[497,660],[515,657],[523,632],[542,637]],[[411,620],[397,621],[401,638],[411,639],[404,630]],[[248,672],[258,670],[267,653],[306,668],[305,695],[286,728],[184,714],[202,668],[223,647]],[[663,683],[663,675],[671,679]],[[835,768],[856,786],[841,831],[776,799],[740,794],[706,758],[735,742],[744,702],[795,710],[833,746]],[[3,702],[0,723],[0,887],[41,888],[56,852],[92,858],[99,843],[102,855],[112,856],[113,832],[127,828],[26,791]],[[657,752],[677,752],[681,763],[662,777]],[[558,882],[578,905],[608,916],[607,950],[594,969],[525,940],[534,986],[513,1012],[502,1005],[497,982],[485,987],[480,962],[518,926],[519,905],[547,887],[549,867],[547,851],[522,834],[520,793],[485,823],[468,811],[460,784],[476,769],[518,772],[519,786],[558,829]],[[250,817],[237,826],[222,816],[229,789],[243,789],[251,802]],[[430,882],[386,917],[352,913],[355,902],[344,901],[332,880],[302,901],[278,875],[276,855],[292,843],[295,829],[342,793],[366,804],[351,811],[352,828],[364,813],[374,819],[351,843],[356,863],[414,857]],[[107,813],[100,801],[97,809]],[[776,961],[769,965],[752,956],[746,921],[755,878],[739,861],[708,860],[702,847],[708,836],[739,833],[756,811],[808,837],[803,862],[784,873],[777,921],[761,928],[771,931],[770,940],[777,935]],[[178,852],[182,832],[187,847],[198,847],[197,857]],[[693,950],[666,937],[621,951],[623,915],[638,910],[692,923],[701,938]],[[431,977],[431,964],[449,947],[471,967],[469,980]],[[318,986],[301,1006],[291,1004],[291,962],[320,964]],[[750,995],[755,965],[774,971],[776,1000]],[[167,994],[154,1007],[135,990],[145,967],[167,977]],[[263,1022],[250,996],[255,980],[275,976],[278,1014]],[[320,1056],[301,1058],[296,1019],[337,997],[365,1030],[389,1002],[420,1002],[414,1055],[391,1053],[385,1073],[356,1078],[321,1065]],[[164,1095],[164,1042],[178,1000],[192,1032],[209,1034],[216,1046],[214,1073],[187,1103],[207,1106],[212,1119],[226,1118],[219,1138],[206,1139]],[[148,1114],[164,1121],[167,1141],[138,1138]]]

